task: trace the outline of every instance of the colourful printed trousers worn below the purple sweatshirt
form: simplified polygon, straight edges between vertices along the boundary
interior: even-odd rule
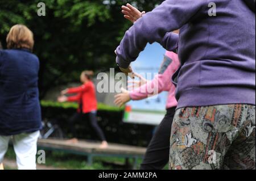
[[[171,131],[170,169],[255,170],[255,106],[177,110]]]

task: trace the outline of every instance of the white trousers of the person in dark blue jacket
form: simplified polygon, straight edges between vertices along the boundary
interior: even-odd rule
[[[37,141],[40,132],[22,133],[14,136],[0,136],[0,163],[3,162],[8,149],[10,138],[16,154],[16,163],[19,170],[36,170]]]

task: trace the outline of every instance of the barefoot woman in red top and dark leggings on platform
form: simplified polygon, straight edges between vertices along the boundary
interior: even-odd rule
[[[68,121],[69,126],[72,129],[73,136],[69,140],[69,142],[76,143],[78,142],[76,136],[76,130],[74,127],[74,123],[81,119],[85,119],[86,116],[89,116],[90,125],[96,131],[98,137],[101,139],[102,143],[100,148],[106,148],[108,146],[108,142],[106,142],[106,138],[101,128],[97,123],[97,99],[96,99],[96,91],[93,82],[91,81],[93,76],[93,71],[83,71],[80,77],[83,85],[75,88],[66,89],[61,91],[61,95],[58,100],[59,102],[78,102],[79,108],[77,112],[71,117]],[[65,94],[76,94],[75,96],[65,96]]]

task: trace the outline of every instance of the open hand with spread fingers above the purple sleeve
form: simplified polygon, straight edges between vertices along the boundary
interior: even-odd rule
[[[127,3],[126,6],[122,6],[122,13],[125,15],[125,18],[130,20],[131,23],[136,22],[139,18],[142,17],[146,12],[139,11],[137,8],[131,6]]]

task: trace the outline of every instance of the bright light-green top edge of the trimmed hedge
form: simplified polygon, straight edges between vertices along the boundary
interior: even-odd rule
[[[56,107],[56,108],[64,108],[64,109],[69,109],[69,108],[78,108],[77,103],[59,103],[59,102],[54,102],[51,100],[41,100],[41,106],[42,107]],[[106,104],[98,103],[98,110],[99,111],[123,111],[124,108],[119,108],[119,107],[114,107],[114,106],[108,106]]]

